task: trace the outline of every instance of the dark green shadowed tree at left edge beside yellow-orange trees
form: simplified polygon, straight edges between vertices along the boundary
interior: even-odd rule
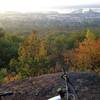
[[[0,38],[0,67],[8,67],[12,58],[18,57],[18,48],[21,39],[16,35],[6,34]]]

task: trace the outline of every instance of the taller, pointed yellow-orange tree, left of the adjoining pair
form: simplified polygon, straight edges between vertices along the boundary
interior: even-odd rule
[[[33,65],[37,63],[38,47],[39,40],[35,32],[32,32],[21,44],[18,52],[18,60],[20,62],[20,72],[22,76],[25,76],[25,73],[26,76],[29,76]]]

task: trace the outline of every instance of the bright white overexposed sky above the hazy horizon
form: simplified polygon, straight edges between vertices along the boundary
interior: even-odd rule
[[[38,12],[94,4],[100,4],[100,0],[0,0],[0,11]]]

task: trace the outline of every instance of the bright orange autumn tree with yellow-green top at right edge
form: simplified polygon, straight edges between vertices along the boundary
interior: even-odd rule
[[[95,71],[100,66],[100,40],[95,40],[95,35],[87,31],[86,39],[75,49],[75,54],[79,69]]]

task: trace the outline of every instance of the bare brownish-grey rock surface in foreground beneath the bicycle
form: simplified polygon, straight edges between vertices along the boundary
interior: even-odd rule
[[[65,87],[62,73],[42,75],[14,81],[0,86],[0,92],[13,91],[2,100],[47,100],[57,95],[59,87]],[[69,73],[80,100],[100,100],[100,77],[92,73]]]

